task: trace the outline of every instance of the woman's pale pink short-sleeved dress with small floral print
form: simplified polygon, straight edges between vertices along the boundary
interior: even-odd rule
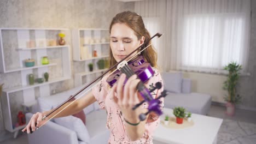
[[[162,79],[159,74],[159,71],[154,68],[154,75],[152,78],[145,83],[146,87],[151,89],[155,86],[156,82],[161,82]],[[131,141],[129,137],[126,135],[125,130],[125,121],[122,116],[122,113],[118,107],[117,104],[114,103],[114,100],[111,99],[112,95],[109,94],[110,87],[108,83],[106,82],[107,77],[104,76],[100,82],[97,83],[97,85],[92,89],[92,93],[94,94],[94,97],[98,101],[98,104],[100,105],[101,109],[105,109],[107,111],[107,124],[106,127],[110,131],[110,138],[108,140],[108,143],[153,143],[153,131],[158,127],[160,119],[159,117],[154,114],[150,113],[147,122],[146,122],[146,128],[144,135],[141,137],[141,139],[137,141]],[[162,86],[163,87],[163,86]],[[153,92],[153,97],[158,97],[161,92],[163,91],[163,88],[156,89]],[[164,99],[161,98],[161,107],[164,107]],[[147,103],[143,104],[143,109],[146,109],[148,107]]]

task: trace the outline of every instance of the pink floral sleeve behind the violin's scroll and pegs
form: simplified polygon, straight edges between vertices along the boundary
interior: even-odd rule
[[[155,98],[158,98],[159,95],[161,95],[161,92],[164,91],[164,83],[162,82],[162,77],[159,73],[159,71],[157,69],[154,68],[154,75],[153,77],[151,77],[149,79],[149,81],[146,83],[146,87],[150,90],[152,89],[153,87],[155,87],[155,83],[156,82],[161,82],[162,83],[162,87],[160,89],[155,89],[154,92],[152,92],[152,97],[155,99]],[[163,107],[164,107],[164,98],[160,98],[159,99],[161,101],[160,103],[160,109],[162,110]],[[144,103],[143,106],[142,106],[143,109],[147,109],[148,108],[148,103]],[[154,112],[150,112],[149,113],[149,116],[148,116],[148,119],[147,119],[147,123],[150,123],[150,122],[154,122],[156,121],[157,119],[159,118],[158,115],[156,115],[156,113]]]

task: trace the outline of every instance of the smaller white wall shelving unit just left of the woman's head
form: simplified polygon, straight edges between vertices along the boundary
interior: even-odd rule
[[[98,69],[97,61],[107,60],[109,57],[109,33],[108,29],[83,28],[72,30],[73,60],[84,62],[85,69],[81,73],[74,74],[75,87],[84,85],[94,80],[106,69]],[[94,57],[94,51],[97,57]],[[89,71],[88,64],[94,64],[94,70]]]

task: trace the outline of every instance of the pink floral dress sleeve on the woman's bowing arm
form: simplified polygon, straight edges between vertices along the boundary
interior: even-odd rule
[[[100,82],[92,88],[92,94],[100,105],[100,109],[105,109],[105,99],[108,94],[108,83],[106,82],[106,77],[103,77]]]

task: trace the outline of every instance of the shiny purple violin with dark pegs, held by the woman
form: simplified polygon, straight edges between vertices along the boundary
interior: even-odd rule
[[[159,98],[165,97],[166,91],[162,92],[158,98],[153,99],[153,97],[150,93],[152,93],[156,88],[160,89],[162,87],[161,83],[157,82],[155,84],[155,87],[153,89],[151,89],[150,91],[148,88],[146,88],[144,86],[143,83],[147,82],[150,79],[150,77],[152,77],[154,75],[154,70],[152,69],[151,65],[144,60],[143,56],[138,56],[137,58],[133,59],[132,61],[128,62],[127,64],[123,64],[118,69],[119,70],[115,71],[107,79],[107,82],[110,85],[110,87],[112,87],[114,85],[114,83],[118,81],[121,73],[126,74],[126,77],[127,77],[126,80],[129,79],[129,77],[131,77],[133,74],[136,74],[138,76],[138,78],[141,80],[138,83],[137,89],[138,89],[138,92],[144,98],[144,100],[141,101],[141,103],[135,105],[133,107],[133,110],[135,110],[138,106],[142,105],[145,102],[147,102],[149,104],[149,107],[148,107],[147,113],[141,113],[141,115],[139,115],[139,119],[141,121],[144,121],[144,119],[146,119],[146,116],[148,115],[148,113],[151,111],[154,111],[158,115],[161,115],[162,111],[160,110],[160,106],[159,106],[161,101],[159,100]],[[125,83],[126,83],[126,81],[125,81]]]

